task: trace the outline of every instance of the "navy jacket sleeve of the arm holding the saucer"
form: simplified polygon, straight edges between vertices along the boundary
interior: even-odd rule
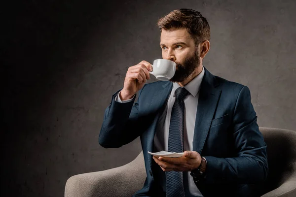
[[[234,158],[205,156],[205,183],[255,183],[268,173],[266,144],[259,131],[250,90],[244,86],[233,112],[233,138],[237,152]]]

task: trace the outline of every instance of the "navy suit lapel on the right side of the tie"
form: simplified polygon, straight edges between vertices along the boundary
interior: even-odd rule
[[[216,106],[221,95],[221,90],[217,88],[219,84],[215,76],[205,67],[204,69],[205,75],[199,92],[193,136],[193,151],[196,151],[199,154],[201,154],[208,136]]]

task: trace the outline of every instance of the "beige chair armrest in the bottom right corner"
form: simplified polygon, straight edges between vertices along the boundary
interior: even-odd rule
[[[296,197],[296,172],[294,172],[280,187],[261,197]]]

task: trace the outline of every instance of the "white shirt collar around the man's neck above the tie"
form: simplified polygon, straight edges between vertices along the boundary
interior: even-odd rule
[[[187,83],[184,88],[193,96],[195,97],[197,95],[197,93],[200,90],[200,84],[202,81],[202,78],[205,74],[205,69],[203,66],[202,67],[202,71],[201,73],[199,73],[196,77],[194,77],[189,83]],[[177,88],[181,87],[177,82],[173,83],[173,90],[174,91],[174,97],[175,97],[175,91],[177,90]]]

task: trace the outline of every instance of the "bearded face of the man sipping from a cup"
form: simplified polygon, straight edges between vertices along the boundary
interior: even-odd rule
[[[172,32],[163,30],[160,35],[162,58],[174,61],[176,73],[170,81],[183,82],[199,65],[199,51],[186,29]]]

